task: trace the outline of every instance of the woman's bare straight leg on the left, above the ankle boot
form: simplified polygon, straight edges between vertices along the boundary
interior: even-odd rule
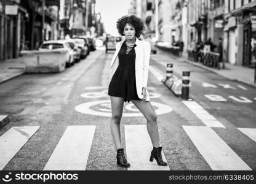
[[[122,109],[124,107],[124,99],[116,96],[110,96],[112,118],[110,123],[111,134],[113,137],[116,150],[121,148],[120,121],[122,118]]]

